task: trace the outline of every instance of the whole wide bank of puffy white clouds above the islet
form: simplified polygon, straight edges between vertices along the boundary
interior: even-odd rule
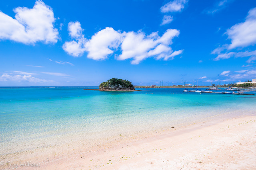
[[[183,53],[183,50],[173,52],[170,47],[173,43],[172,39],[178,37],[180,33],[177,29],[167,29],[162,36],[159,36],[158,32],[150,35],[142,31],[121,33],[112,27],[106,27],[95,33],[91,39],[85,39],[78,21],[68,25],[70,37],[75,40],[65,42],[62,48],[74,57],[86,51],[89,59],[104,60],[120,49],[121,54],[116,56],[116,59],[133,59],[132,64],[139,64],[148,57],[155,57],[157,60],[172,60],[176,55]]]

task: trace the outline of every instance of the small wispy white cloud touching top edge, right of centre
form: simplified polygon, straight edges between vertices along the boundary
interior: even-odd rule
[[[160,8],[161,12],[179,12],[184,8],[184,4],[186,4],[188,0],[174,0],[168,2],[164,6]]]

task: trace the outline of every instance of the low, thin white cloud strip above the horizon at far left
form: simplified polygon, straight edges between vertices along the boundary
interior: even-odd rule
[[[28,82],[53,82],[52,80],[44,80],[44,79],[40,79],[40,78],[35,78],[32,75],[9,75],[9,74],[2,74],[2,76],[0,76],[0,81],[17,81],[17,82],[21,82],[21,81],[28,81]]]

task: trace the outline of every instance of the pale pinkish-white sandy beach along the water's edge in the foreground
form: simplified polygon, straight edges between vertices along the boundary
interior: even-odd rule
[[[256,114],[196,123],[44,161],[26,158],[21,169],[256,169]],[[33,156],[32,156],[33,157]],[[38,158],[39,157],[39,158]],[[5,160],[7,161],[7,160]],[[24,159],[25,161],[25,159]],[[24,163],[21,162],[21,163]],[[38,161],[38,162],[36,162]],[[2,164],[2,163],[1,163]],[[0,165],[1,169],[12,169]]]

